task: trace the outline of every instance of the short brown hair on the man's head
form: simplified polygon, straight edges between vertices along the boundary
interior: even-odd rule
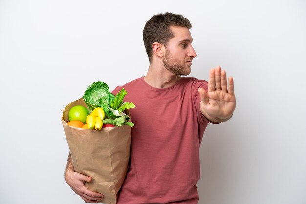
[[[152,44],[158,42],[167,45],[170,38],[174,37],[174,34],[170,30],[170,26],[180,26],[190,29],[192,24],[189,20],[180,14],[163,13],[156,14],[147,21],[142,34],[143,42],[145,44],[146,52],[151,62],[152,58]]]

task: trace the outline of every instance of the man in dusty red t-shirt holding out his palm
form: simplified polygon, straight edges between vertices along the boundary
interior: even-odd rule
[[[172,13],[154,15],[143,39],[149,57],[146,76],[124,87],[125,101],[135,126],[131,160],[118,204],[197,204],[200,178],[199,146],[209,122],[231,118],[235,106],[234,82],[220,67],[211,69],[209,82],[181,77],[191,71],[196,52],[189,20]],[[91,178],[74,172],[68,158],[67,184],[88,203],[103,198],[88,190]],[[103,202],[103,200],[102,200]]]

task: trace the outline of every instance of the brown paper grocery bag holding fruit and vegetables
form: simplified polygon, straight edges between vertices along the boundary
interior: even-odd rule
[[[130,158],[131,127],[108,127],[101,130],[67,125],[70,108],[86,104],[83,98],[63,110],[62,123],[75,171],[92,177],[85,186],[104,195],[101,203],[116,204]],[[127,112],[129,115],[129,113]]]

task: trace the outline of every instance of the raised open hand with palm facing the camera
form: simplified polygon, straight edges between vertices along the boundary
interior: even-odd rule
[[[221,67],[211,69],[209,72],[208,91],[199,88],[201,96],[200,110],[212,122],[224,122],[230,119],[236,107],[234,94],[234,80],[227,77]]]

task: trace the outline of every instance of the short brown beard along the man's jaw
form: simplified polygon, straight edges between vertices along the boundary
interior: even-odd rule
[[[190,66],[182,64],[178,59],[170,55],[166,50],[165,58],[163,59],[165,68],[175,75],[189,75],[191,72]]]

